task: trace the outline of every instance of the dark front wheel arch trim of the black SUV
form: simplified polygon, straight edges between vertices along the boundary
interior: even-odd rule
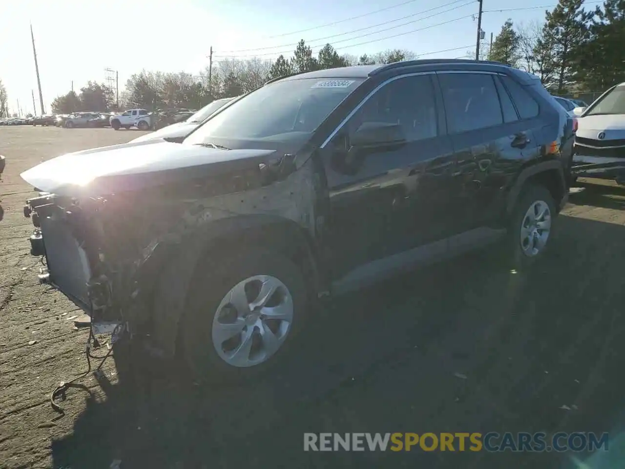
[[[213,221],[194,230],[180,243],[169,246],[160,261],[159,275],[153,284],[150,318],[155,346],[167,355],[176,353],[189,285],[200,263],[215,253],[219,256],[232,250],[249,249],[249,246],[285,255],[302,268],[302,275],[312,278],[314,291],[311,293],[319,291],[322,279],[317,249],[306,230],[296,222],[265,214]]]

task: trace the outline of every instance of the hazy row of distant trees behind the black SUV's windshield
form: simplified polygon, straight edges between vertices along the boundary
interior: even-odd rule
[[[275,61],[227,58],[196,75],[142,70],[126,81],[125,89],[119,94],[119,108],[199,109],[214,99],[239,96],[262,86],[272,78],[291,73],[355,64],[392,63],[414,57],[415,54],[411,51],[394,49],[371,56],[364,54],[357,58],[339,55],[331,44],[326,44],[314,56],[310,46],[302,40],[291,57],[285,58],[281,55]],[[58,96],[52,103],[52,112],[55,114],[116,109],[117,96],[114,96],[114,90],[96,81],[90,81],[79,93],[69,91]]]

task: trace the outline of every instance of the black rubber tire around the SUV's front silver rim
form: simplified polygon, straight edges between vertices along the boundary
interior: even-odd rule
[[[219,258],[219,253],[209,258]],[[300,269],[279,253],[256,250],[244,251],[234,260],[204,263],[189,288],[186,312],[181,323],[179,344],[184,359],[200,383],[239,383],[254,379],[279,366],[288,350],[296,343],[296,336],[306,321],[307,290]],[[286,285],[291,294],[294,314],[291,330],[282,346],[268,360],[259,365],[239,368],[229,365],[217,354],[212,344],[212,321],[222,298],[237,283],[254,275],[272,275]],[[212,288],[207,288],[212,286]]]

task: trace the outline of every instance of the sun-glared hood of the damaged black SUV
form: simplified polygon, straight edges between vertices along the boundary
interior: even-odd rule
[[[224,150],[156,140],[68,153],[27,169],[22,179],[63,196],[135,191],[184,179],[258,168],[272,149]]]

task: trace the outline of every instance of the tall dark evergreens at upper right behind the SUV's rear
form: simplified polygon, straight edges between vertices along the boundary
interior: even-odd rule
[[[604,91],[625,81],[625,0],[592,10],[560,0],[543,23],[508,19],[484,56],[536,74],[551,93]]]

